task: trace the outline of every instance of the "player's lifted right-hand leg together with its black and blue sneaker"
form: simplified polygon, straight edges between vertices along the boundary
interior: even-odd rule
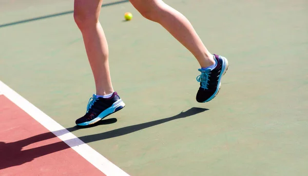
[[[147,19],[162,25],[172,36],[185,46],[197,59],[201,74],[196,99],[200,103],[208,102],[218,94],[221,77],[228,68],[225,57],[212,55],[202,43],[188,19],[165,4],[162,0],[130,0],[131,4]]]

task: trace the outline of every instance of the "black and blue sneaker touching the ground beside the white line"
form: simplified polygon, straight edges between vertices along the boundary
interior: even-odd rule
[[[121,110],[124,106],[125,104],[117,92],[114,92],[108,99],[97,98],[93,94],[93,97],[89,100],[86,114],[76,120],[76,125],[87,126],[97,123],[106,116]]]

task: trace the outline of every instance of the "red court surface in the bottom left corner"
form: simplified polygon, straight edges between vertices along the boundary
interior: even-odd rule
[[[105,175],[0,95],[0,175]]]

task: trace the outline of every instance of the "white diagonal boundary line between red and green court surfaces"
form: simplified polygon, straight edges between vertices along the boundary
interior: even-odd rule
[[[60,138],[63,142],[65,142],[68,146],[70,146],[73,150],[79,153],[83,158],[107,176],[129,176],[118,166],[114,165],[99,152],[82,142],[74,134],[55,122],[47,114],[28,102],[24,99],[24,97],[16,93],[2,81],[0,81],[0,95],[1,94],[4,94],[10,101],[27,112],[33,119],[55,134],[58,138]]]

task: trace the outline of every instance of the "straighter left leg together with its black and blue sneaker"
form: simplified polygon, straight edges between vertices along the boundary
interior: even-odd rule
[[[83,36],[96,87],[96,94],[91,97],[86,114],[76,120],[76,124],[81,126],[96,123],[125,106],[111,84],[108,44],[99,22],[102,2],[74,0],[74,20]]]

